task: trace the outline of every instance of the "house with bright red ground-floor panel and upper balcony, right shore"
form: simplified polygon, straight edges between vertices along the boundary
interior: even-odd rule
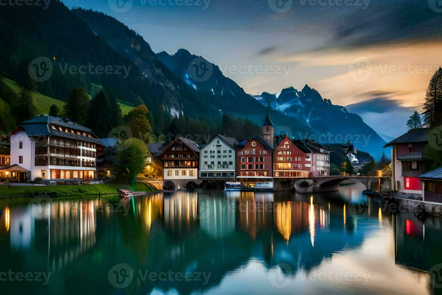
[[[422,198],[418,176],[426,171],[428,132],[429,128],[411,129],[384,146],[392,146],[392,189],[396,197]]]

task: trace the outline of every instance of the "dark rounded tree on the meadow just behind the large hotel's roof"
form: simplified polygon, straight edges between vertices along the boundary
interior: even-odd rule
[[[88,107],[91,96],[81,87],[72,88],[66,96],[63,115],[78,123],[84,125],[88,119]]]

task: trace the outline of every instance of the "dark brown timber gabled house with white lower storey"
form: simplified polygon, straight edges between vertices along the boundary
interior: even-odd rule
[[[165,188],[175,189],[198,179],[198,161],[200,149],[190,139],[177,137],[161,148],[156,157],[163,163]],[[196,185],[196,182],[193,181]]]

